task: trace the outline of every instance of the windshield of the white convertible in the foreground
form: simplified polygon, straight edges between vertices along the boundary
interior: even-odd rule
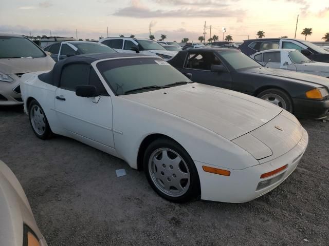
[[[117,95],[161,89],[175,83],[180,85],[182,81],[191,82],[166,61],[156,58],[105,60],[98,63],[97,68]],[[145,89],[138,90],[140,88]]]

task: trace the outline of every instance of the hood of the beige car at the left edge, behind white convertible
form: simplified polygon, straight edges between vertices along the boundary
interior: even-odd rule
[[[50,56],[39,58],[2,58],[0,72],[5,74],[51,70],[55,62]]]

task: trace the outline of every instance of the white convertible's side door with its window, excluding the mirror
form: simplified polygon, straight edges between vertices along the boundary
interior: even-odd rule
[[[79,85],[95,86],[100,96],[77,96],[75,89]],[[64,67],[54,100],[58,122],[67,134],[114,148],[111,96],[90,65]]]

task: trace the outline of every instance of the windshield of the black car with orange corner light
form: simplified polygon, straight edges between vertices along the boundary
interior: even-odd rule
[[[262,67],[257,61],[253,60],[249,56],[237,51],[222,51],[218,52],[229,65],[234,69],[244,69],[244,68],[258,68]]]

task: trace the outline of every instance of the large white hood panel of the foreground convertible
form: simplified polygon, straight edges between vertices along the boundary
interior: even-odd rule
[[[256,97],[197,83],[121,97],[189,120],[229,140],[259,128],[282,111]]]

